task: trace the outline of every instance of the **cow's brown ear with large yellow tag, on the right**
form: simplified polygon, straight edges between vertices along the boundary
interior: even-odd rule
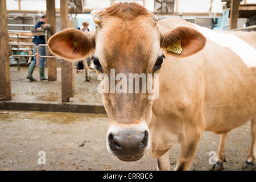
[[[205,36],[193,28],[177,27],[162,35],[161,47],[167,54],[187,57],[201,51],[206,41]]]

